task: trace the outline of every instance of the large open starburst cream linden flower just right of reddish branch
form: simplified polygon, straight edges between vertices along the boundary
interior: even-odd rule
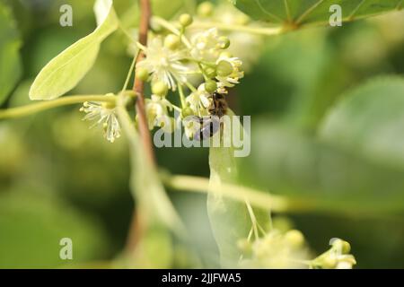
[[[186,57],[183,50],[172,50],[164,47],[160,37],[152,39],[147,48],[143,48],[146,58],[139,62],[136,68],[145,68],[152,74],[152,81],[165,83],[169,89],[175,91],[176,82],[186,82],[189,67],[180,61]]]

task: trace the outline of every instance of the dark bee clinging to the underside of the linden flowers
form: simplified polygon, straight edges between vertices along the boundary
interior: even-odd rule
[[[209,116],[198,117],[195,116],[195,120],[199,122],[200,128],[194,135],[194,139],[197,141],[206,140],[217,133],[221,128],[220,118],[227,113],[227,102],[224,99],[224,94],[215,91],[212,94],[212,103],[207,108]]]

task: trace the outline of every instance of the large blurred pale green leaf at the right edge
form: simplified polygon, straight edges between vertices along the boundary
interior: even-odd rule
[[[404,77],[381,77],[348,92],[329,112],[321,138],[404,169]]]

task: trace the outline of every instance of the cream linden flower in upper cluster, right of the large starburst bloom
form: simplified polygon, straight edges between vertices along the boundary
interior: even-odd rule
[[[221,52],[219,42],[216,28],[200,32],[191,39],[191,56],[197,60],[215,62]]]

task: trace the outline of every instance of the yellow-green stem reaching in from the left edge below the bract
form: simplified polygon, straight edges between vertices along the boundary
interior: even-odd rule
[[[13,109],[0,109],[0,119],[26,117],[32,114],[44,111],[47,109],[54,109],[57,107],[68,106],[83,103],[84,101],[102,101],[102,102],[116,102],[116,96],[103,96],[103,95],[82,95],[82,96],[67,96],[57,100],[41,101],[39,103],[13,108]]]

